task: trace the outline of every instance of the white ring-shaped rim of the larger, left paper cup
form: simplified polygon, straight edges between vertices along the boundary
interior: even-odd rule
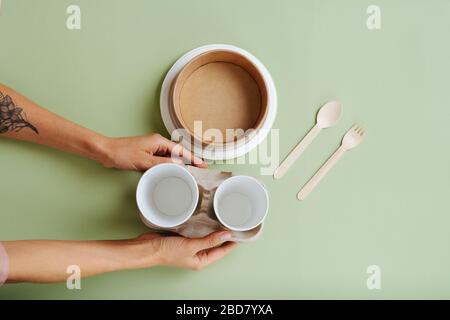
[[[152,220],[144,213],[144,210],[142,209],[142,205],[141,205],[142,199],[140,199],[140,195],[139,195],[139,194],[140,194],[140,193],[139,193],[140,187],[142,186],[143,181],[146,179],[146,177],[147,177],[149,174],[151,174],[153,171],[157,170],[157,168],[161,168],[161,167],[174,167],[174,168],[176,168],[177,170],[178,170],[178,169],[181,169],[182,171],[184,171],[185,173],[187,173],[187,177],[189,177],[188,179],[190,179],[191,182],[193,182],[193,185],[195,186],[195,187],[193,188],[193,190],[191,189],[192,191],[194,191],[192,203],[195,203],[195,205],[192,206],[192,209],[190,209],[189,213],[186,214],[186,217],[185,217],[181,222],[178,222],[178,223],[176,223],[176,224],[159,224],[159,223],[156,223],[156,222],[152,221]],[[192,173],[190,173],[189,170],[187,170],[187,169],[185,168],[184,165],[177,164],[177,163],[161,163],[161,164],[158,164],[158,165],[155,165],[155,166],[149,168],[149,169],[148,169],[147,171],[145,171],[144,174],[141,176],[141,178],[139,179],[138,185],[137,185],[137,187],[136,187],[136,203],[137,203],[137,206],[138,206],[138,209],[139,209],[139,213],[140,213],[141,219],[144,219],[144,220],[147,221],[149,224],[154,225],[155,227],[159,227],[159,228],[174,228],[174,227],[178,227],[178,226],[182,225],[183,223],[185,223],[186,221],[188,221],[188,220],[192,217],[192,215],[194,214],[195,210],[197,209],[199,197],[200,197],[200,191],[199,191],[199,188],[198,188],[197,180],[196,180],[195,177],[192,175]],[[145,224],[145,222],[144,222],[144,224]]]

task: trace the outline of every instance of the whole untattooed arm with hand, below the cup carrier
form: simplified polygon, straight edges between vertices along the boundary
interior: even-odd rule
[[[9,260],[9,282],[61,282],[67,266],[77,265],[83,277],[125,269],[176,266],[200,270],[223,258],[236,245],[228,232],[200,239],[157,233],[125,240],[2,241]],[[1,253],[1,252],[0,252]]]

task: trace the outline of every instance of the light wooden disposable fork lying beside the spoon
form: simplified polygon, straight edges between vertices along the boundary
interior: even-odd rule
[[[341,146],[333,153],[333,155],[323,164],[323,166],[314,174],[314,176],[303,186],[297,194],[298,200],[305,200],[306,197],[319,184],[320,180],[327,174],[342,155],[356,147],[363,139],[364,129],[359,126],[353,126],[347,131],[342,139]]]

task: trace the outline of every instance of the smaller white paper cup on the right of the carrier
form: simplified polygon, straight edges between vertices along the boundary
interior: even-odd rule
[[[233,231],[251,230],[266,218],[269,194],[255,178],[233,176],[217,188],[214,211],[225,228]]]

